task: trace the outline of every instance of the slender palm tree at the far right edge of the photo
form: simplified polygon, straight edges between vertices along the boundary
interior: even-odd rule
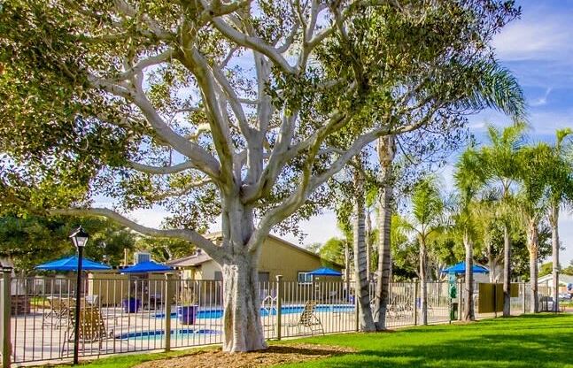
[[[551,226],[551,242],[553,256],[553,288],[554,311],[559,311],[559,211],[563,206],[573,206],[573,167],[570,160],[565,157],[567,147],[565,139],[573,134],[573,129],[559,129],[556,132],[555,144],[552,147],[552,156],[555,167],[548,176],[548,205],[547,219]],[[568,162],[569,161],[569,162]]]

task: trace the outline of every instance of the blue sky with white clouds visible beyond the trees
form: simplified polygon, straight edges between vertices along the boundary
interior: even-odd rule
[[[554,140],[555,129],[573,127],[573,0],[517,1],[521,19],[505,27],[493,45],[501,64],[511,70],[523,87],[529,105],[530,142]],[[509,119],[496,111],[482,111],[470,118],[469,128],[479,140],[486,124],[507,126]],[[440,170],[445,190],[452,188],[453,161]],[[131,214],[143,225],[159,226],[166,216],[159,210]],[[300,224],[306,237],[287,234],[283,238],[298,245],[325,242],[339,236],[337,219],[326,212]],[[218,230],[220,224],[211,229]],[[573,259],[573,215],[562,211],[560,221],[562,265]]]

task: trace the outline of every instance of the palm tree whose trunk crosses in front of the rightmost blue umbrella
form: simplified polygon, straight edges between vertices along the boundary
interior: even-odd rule
[[[484,165],[476,149],[470,146],[461,155],[453,174],[455,186],[458,190],[458,211],[453,216],[454,226],[461,233],[461,239],[466,254],[465,305],[463,307],[464,320],[475,320],[474,313],[474,244],[476,240],[476,213],[473,207],[476,204],[476,196],[484,183]]]

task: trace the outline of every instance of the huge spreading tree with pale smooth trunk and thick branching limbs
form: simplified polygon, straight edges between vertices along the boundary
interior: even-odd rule
[[[3,210],[205,249],[223,272],[223,349],[264,349],[269,231],[317,211],[377,138],[463,124],[492,36],[518,15],[494,0],[4,1]],[[126,216],[153,206],[171,213],[161,228]],[[201,231],[219,217],[215,244]]]

